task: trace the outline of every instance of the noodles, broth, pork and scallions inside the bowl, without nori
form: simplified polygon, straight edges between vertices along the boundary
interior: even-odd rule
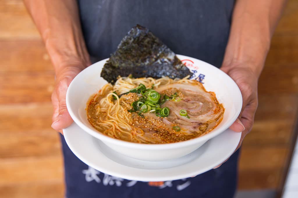
[[[88,121],[109,137],[137,143],[181,142],[206,134],[221,122],[224,107],[202,83],[187,77],[120,77],[90,97]]]

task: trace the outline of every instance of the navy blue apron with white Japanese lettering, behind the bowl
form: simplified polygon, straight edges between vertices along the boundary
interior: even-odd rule
[[[220,67],[229,37],[234,0],[78,0],[86,45],[92,60],[108,58],[136,24],[149,28],[176,54]],[[239,151],[217,169],[194,178],[141,182],[89,167],[63,146],[66,197],[232,198]],[[96,156],[94,156],[96,157]]]

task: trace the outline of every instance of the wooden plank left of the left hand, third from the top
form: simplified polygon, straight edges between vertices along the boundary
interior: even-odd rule
[[[54,89],[54,72],[0,73],[0,104],[50,102]]]

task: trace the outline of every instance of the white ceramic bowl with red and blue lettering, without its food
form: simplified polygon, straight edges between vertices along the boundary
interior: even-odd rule
[[[162,161],[176,159],[195,151],[209,139],[224,132],[232,125],[240,113],[242,95],[232,78],[220,69],[196,58],[177,56],[194,72],[191,79],[204,83],[206,90],[215,92],[218,101],[224,105],[223,120],[211,132],[191,140],[168,144],[127,142],[98,132],[88,122],[86,107],[90,96],[97,93],[107,83],[106,80],[100,77],[100,72],[108,59],[92,64],[72,80],[66,94],[66,105],[70,116],[80,128],[101,140],[109,148],[134,159]]]

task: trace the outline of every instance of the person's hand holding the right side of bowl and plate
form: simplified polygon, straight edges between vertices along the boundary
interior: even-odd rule
[[[258,75],[255,74],[249,66],[245,65],[226,67],[223,66],[221,70],[228,74],[236,82],[236,84],[240,88],[243,99],[240,115],[238,116],[237,120],[230,126],[230,129],[232,129],[233,131],[242,132],[240,142],[235,150],[237,151],[238,148],[240,148],[244,137],[251,131],[252,125],[254,123],[254,114],[258,106]],[[228,159],[226,159],[224,162],[226,162]],[[218,168],[220,166],[221,164],[214,168]]]

